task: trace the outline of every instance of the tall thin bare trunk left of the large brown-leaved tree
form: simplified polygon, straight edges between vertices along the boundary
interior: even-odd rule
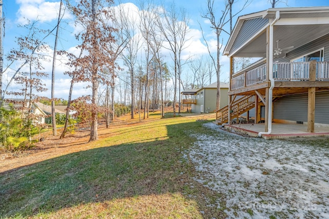
[[[52,71],[51,71],[51,121],[52,121],[52,135],[53,136],[57,135],[54,92],[55,92],[55,68],[56,68],[57,42],[58,42],[59,25],[61,22],[61,11],[62,11],[62,0],[60,2],[60,11],[58,14],[57,30],[56,30],[56,35],[55,35],[55,45],[53,47]]]

